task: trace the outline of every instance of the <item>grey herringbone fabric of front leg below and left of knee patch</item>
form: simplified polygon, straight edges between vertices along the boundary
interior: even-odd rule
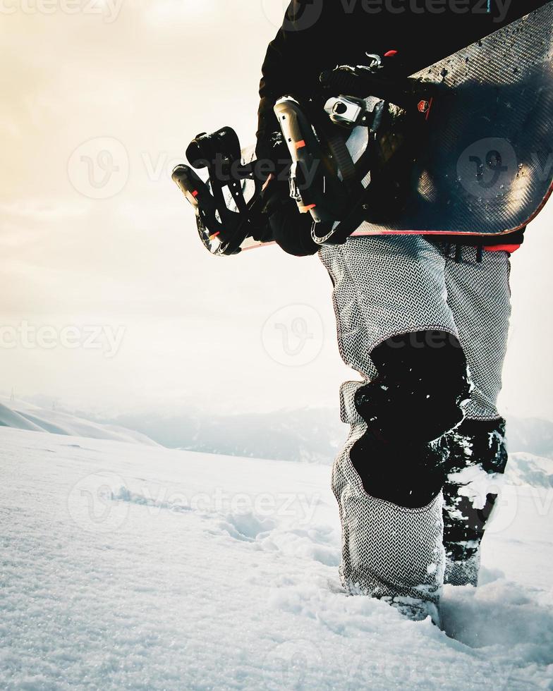
[[[341,389],[342,420],[351,424],[334,462],[332,489],[342,527],[340,577],[350,594],[385,599],[415,620],[437,618],[444,577],[442,492],[425,506],[408,508],[371,496],[351,460],[367,424],[354,403],[361,384]],[[370,458],[377,465],[382,459]]]

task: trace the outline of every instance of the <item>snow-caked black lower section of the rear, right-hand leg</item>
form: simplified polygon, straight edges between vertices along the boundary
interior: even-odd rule
[[[505,421],[465,420],[444,441],[449,448],[444,485],[444,582],[476,586],[480,542],[507,463]]]

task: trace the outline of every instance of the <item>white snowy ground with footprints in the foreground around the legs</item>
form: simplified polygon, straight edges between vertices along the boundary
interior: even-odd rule
[[[8,428],[0,449],[2,688],[553,688],[551,487],[506,489],[442,632],[338,591],[328,467]]]

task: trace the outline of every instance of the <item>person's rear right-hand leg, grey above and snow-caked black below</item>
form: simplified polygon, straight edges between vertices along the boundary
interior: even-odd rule
[[[444,486],[445,582],[477,585],[480,542],[507,462],[505,421],[497,411],[511,314],[509,255],[472,247],[448,259],[446,286],[473,391],[466,419],[444,437],[449,448]]]

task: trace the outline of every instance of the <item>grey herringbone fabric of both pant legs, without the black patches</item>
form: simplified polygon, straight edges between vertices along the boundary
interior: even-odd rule
[[[342,525],[340,573],[350,592],[437,601],[444,580],[442,495],[418,509],[375,499],[363,489],[349,458],[366,429],[353,394],[378,374],[372,350],[411,331],[453,334],[473,381],[466,416],[499,420],[496,405],[511,311],[509,255],[485,251],[478,262],[473,247],[463,247],[457,259],[454,255],[420,236],[350,238],[345,245],[320,250],[334,285],[341,356],[363,378],[341,389],[342,420],[351,431],[332,475]]]

